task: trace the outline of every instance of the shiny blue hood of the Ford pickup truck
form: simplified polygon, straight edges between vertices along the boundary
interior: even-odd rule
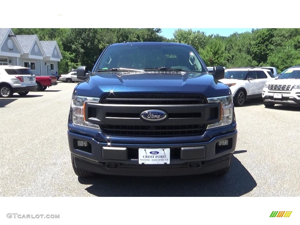
[[[220,97],[229,95],[229,87],[211,74],[181,71],[131,72],[120,76],[117,73],[91,73],[76,86],[76,95],[100,97],[111,92],[198,93]]]

